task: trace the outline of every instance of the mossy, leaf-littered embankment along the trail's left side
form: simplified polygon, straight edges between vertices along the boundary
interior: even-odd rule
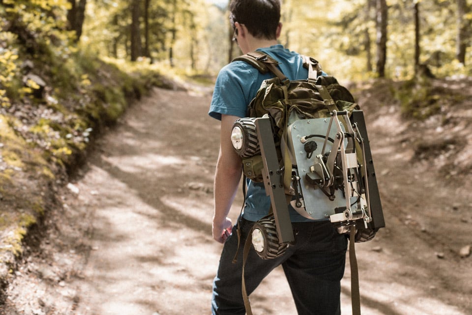
[[[9,62],[12,79],[0,85],[0,303],[90,143],[152,86],[173,87],[81,52],[66,63],[44,54]]]

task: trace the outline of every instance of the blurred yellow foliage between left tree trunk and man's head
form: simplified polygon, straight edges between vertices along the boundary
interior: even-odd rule
[[[101,57],[129,59],[129,6],[130,1],[124,0],[89,0],[81,45]],[[228,59],[227,16],[206,0],[150,1],[148,26],[149,55],[146,55],[143,17],[140,28],[143,58],[140,59],[171,64],[172,50],[172,61],[177,68],[213,73]]]

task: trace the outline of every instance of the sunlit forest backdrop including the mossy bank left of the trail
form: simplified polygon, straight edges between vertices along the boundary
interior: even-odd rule
[[[212,84],[240,54],[227,4],[0,0],[3,286],[29,227],[47,212],[51,187],[67,182],[95,135],[152,86]],[[284,0],[280,42],[344,84],[392,86],[389,101],[424,120],[458,97],[444,97],[447,88],[432,78],[472,76],[471,7],[471,0]]]

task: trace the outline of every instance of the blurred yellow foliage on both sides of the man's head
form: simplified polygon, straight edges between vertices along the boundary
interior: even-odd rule
[[[149,5],[147,61],[175,65],[197,74],[215,74],[228,62],[230,33],[226,8],[209,0],[153,0]],[[365,80],[376,72],[376,1],[285,0],[281,44],[317,58],[325,70],[347,80]],[[414,75],[413,0],[389,0],[386,75],[408,80]],[[145,3],[145,1],[142,1]],[[219,1],[221,3],[221,1]],[[192,4],[192,5],[190,5]],[[82,44],[101,56],[128,58],[130,2],[89,0]],[[472,32],[472,1],[464,15]],[[144,10],[144,5],[143,5]],[[455,60],[457,6],[451,0],[420,1],[420,63],[439,76],[472,75],[471,38],[466,65]],[[141,24],[145,43],[144,16]],[[470,36],[470,35],[469,35]],[[172,60],[170,60],[172,52]],[[240,54],[233,46],[233,54]]]

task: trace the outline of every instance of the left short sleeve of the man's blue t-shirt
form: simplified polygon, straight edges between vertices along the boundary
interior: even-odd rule
[[[216,78],[208,115],[221,120],[221,115],[245,117],[251,101],[251,87],[257,70],[243,61],[223,67]]]

